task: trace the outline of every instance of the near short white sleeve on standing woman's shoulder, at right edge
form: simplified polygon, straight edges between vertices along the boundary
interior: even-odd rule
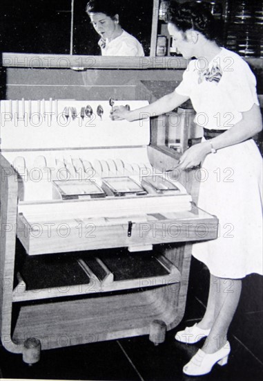
[[[224,66],[220,87],[226,99],[231,100],[236,112],[246,112],[254,104],[259,105],[256,85],[249,65],[238,55],[233,58],[233,65],[228,62],[228,65]]]

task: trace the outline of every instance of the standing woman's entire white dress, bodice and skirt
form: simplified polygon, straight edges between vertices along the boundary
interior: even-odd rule
[[[228,130],[242,112],[259,104],[255,76],[239,55],[225,48],[206,70],[204,63],[192,60],[175,91],[191,98],[197,124]],[[262,157],[257,145],[249,139],[208,154],[200,173],[198,206],[216,215],[220,224],[218,238],[193,245],[193,256],[218,277],[263,274]]]

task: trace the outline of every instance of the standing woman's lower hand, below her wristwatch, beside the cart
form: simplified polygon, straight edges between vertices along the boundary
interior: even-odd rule
[[[204,158],[209,152],[211,152],[211,149],[208,141],[192,145],[192,147],[188,148],[188,150],[182,154],[179,160],[179,167],[182,169],[197,167],[204,161]]]

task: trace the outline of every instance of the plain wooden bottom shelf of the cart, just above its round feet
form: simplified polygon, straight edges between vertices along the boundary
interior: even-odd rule
[[[173,285],[173,292],[167,287],[21,305],[12,340],[23,344],[35,337],[45,350],[146,335],[155,319],[164,321],[170,329],[182,316],[178,317],[177,304],[172,301],[179,284]]]

